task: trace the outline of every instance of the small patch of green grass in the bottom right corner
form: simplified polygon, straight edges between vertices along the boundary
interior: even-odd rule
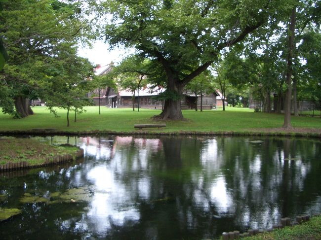
[[[264,233],[253,237],[242,238],[244,240],[320,240],[321,216],[315,216],[310,221],[293,227],[277,229],[270,233]]]

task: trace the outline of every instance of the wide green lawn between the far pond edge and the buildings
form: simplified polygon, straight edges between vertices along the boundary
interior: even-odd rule
[[[154,123],[151,118],[159,114],[160,110],[140,109],[139,112],[130,108],[101,107],[101,115],[97,106],[86,107],[86,112],[77,115],[74,123],[74,114],[70,114],[71,126],[67,127],[66,111],[58,109],[55,117],[45,107],[34,107],[35,115],[24,119],[13,119],[12,116],[0,114],[0,131],[7,130],[31,130],[31,129],[57,129],[63,131],[138,131],[134,130],[134,124]],[[280,128],[283,124],[282,114],[268,114],[254,112],[248,108],[227,107],[221,109],[184,110],[184,121],[167,121],[167,127],[161,131],[235,131],[253,132],[260,128]],[[321,130],[321,118],[319,117],[291,117],[292,126],[295,128],[315,128]],[[151,131],[158,131],[152,129]]]

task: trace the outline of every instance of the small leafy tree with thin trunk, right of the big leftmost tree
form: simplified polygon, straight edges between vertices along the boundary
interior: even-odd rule
[[[76,48],[67,43],[60,47],[60,54],[42,66],[46,77],[41,81],[44,91],[40,97],[55,115],[55,107],[67,109],[69,127],[70,111],[83,112],[83,106],[90,104],[86,95],[94,87],[89,80],[93,77],[93,66],[76,55]]]

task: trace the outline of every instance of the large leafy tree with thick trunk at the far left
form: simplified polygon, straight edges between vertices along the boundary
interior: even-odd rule
[[[76,0],[2,1],[0,33],[8,53],[0,73],[0,90],[7,93],[0,102],[2,111],[16,117],[32,114],[28,98],[43,92],[41,65],[60,54],[60,45],[76,46],[89,36],[90,25],[81,4]]]

